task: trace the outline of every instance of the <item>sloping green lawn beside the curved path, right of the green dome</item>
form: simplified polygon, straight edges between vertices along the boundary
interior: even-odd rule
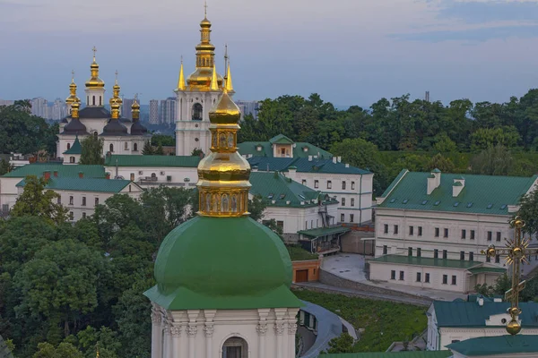
[[[412,304],[374,301],[343,294],[294,290],[301,300],[333,311],[355,329],[365,328],[353,346],[355,352],[385,352],[394,341],[412,340],[428,326],[426,308]],[[414,336],[413,336],[414,335]]]

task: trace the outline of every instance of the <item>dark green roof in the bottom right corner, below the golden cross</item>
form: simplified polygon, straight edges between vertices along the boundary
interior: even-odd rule
[[[466,356],[506,354],[538,354],[538,336],[516,335],[498,337],[478,337],[447,345],[452,351]]]

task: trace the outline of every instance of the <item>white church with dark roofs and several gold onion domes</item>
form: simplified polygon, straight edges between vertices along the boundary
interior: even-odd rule
[[[99,77],[95,48],[90,68],[91,78],[86,81],[84,90],[86,102],[82,109],[79,109],[81,100],[76,94],[77,87],[74,78],[69,85],[70,96],[65,99],[68,115],[60,122],[56,156],[63,158],[65,163],[77,164],[80,153],[78,149],[74,153],[72,147],[80,147],[78,141],[90,135],[104,140],[103,155],[108,152],[141,155],[143,144],[150,140],[151,135],[140,123],[140,105],[134,100],[132,121],[120,115],[123,100],[119,96],[120,87],[116,78],[116,83],[112,88],[112,98],[108,101],[110,105],[110,111],[108,111],[105,108],[105,82]]]

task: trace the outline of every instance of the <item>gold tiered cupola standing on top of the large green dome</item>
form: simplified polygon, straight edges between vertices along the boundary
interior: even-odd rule
[[[205,217],[248,215],[250,166],[237,151],[239,107],[226,88],[209,113],[211,153],[198,165],[200,212]]]

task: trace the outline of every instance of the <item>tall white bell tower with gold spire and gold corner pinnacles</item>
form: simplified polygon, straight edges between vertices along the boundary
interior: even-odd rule
[[[196,70],[185,81],[183,62],[179,70],[176,92],[176,155],[190,156],[195,149],[209,154],[211,134],[209,112],[224,87],[231,96],[230,64],[226,61],[227,74],[224,78],[217,73],[215,47],[211,43],[211,21],[207,16],[200,22],[200,43],[196,46]],[[224,57],[227,60],[227,55]]]

